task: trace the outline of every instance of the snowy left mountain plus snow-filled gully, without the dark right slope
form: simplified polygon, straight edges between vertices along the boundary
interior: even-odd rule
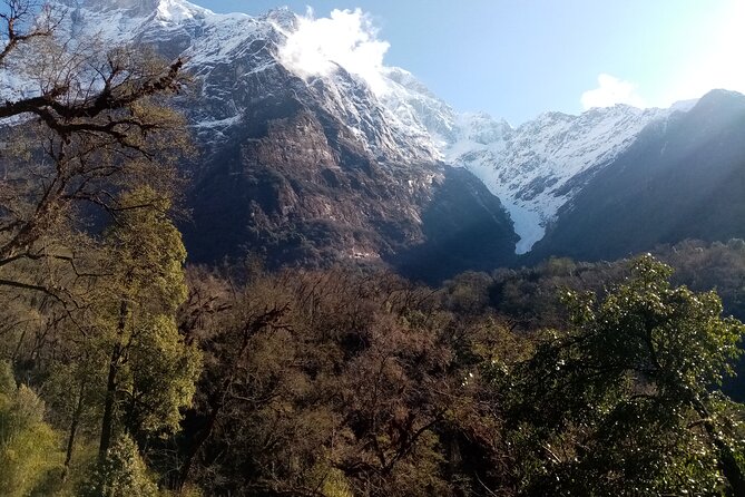
[[[362,56],[306,53],[323,33],[287,9],[251,17],[185,0],[58,1],[73,39],[146,45],[195,75],[196,95],[179,105],[203,152],[189,165],[194,222],[184,227],[197,260],[258,247],[278,263],[429,257],[421,271],[437,272],[444,257],[457,261],[451,273],[509,264],[561,225],[645,130],[661,129],[664,142],[668,123],[696,105],[546,113],[513,127],[457,111],[375,59],[375,40],[362,40],[373,49],[365,67]]]

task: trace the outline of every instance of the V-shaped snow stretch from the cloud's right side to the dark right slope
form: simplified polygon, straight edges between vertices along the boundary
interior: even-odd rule
[[[400,121],[429,133],[445,163],[468,168],[502,202],[520,237],[518,254],[529,252],[559,208],[646,126],[696,104],[667,109],[617,105],[579,116],[546,113],[513,128],[487,114],[454,111],[403,69],[389,69],[385,77],[383,105]]]

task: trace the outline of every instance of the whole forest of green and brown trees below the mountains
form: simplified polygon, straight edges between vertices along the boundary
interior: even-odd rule
[[[6,7],[1,495],[745,495],[742,240],[439,286],[187,264],[184,61]]]

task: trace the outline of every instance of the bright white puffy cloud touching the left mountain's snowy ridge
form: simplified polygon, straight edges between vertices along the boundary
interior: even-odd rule
[[[390,48],[378,39],[370,17],[360,9],[333,10],[316,19],[308,9],[280,48],[280,60],[302,77],[326,76],[336,65],[363,78],[376,94],[385,92],[383,58]]]

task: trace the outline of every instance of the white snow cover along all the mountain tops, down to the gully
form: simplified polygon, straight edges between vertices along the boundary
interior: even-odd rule
[[[69,0],[68,0],[69,2]],[[261,18],[216,14],[183,0],[82,0],[73,2],[72,31],[98,30],[118,42],[144,41],[184,55],[204,81],[202,100],[193,111],[196,131],[213,143],[224,128],[239,121],[242,101],[273,91],[283,69],[276,49],[297,27],[286,9]],[[257,43],[264,45],[256,50]],[[163,47],[160,47],[163,50]],[[225,74],[235,65],[242,74]],[[231,69],[232,70],[232,69]],[[228,80],[238,76],[235,81]],[[301,75],[298,75],[301,76]],[[592,172],[612,162],[651,121],[672,109],[616,106],[580,116],[547,113],[512,128],[483,114],[459,114],[434,96],[413,75],[384,67],[376,91],[344,67],[317,78],[302,77],[303,90],[325,103],[350,131],[379,157],[395,162],[433,162],[463,166],[506,205],[528,252],[542,238],[558,209],[570,202]]]

